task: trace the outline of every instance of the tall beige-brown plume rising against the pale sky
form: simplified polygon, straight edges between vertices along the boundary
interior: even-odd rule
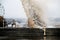
[[[29,3],[30,1],[30,3]],[[26,11],[26,14],[27,14],[27,17],[28,17],[28,20],[29,18],[31,18],[31,21],[30,21],[30,24],[34,21],[34,23],[36,21],[38,21],[37,23],[41,26],[43,25],[46,25],[46,16],[44,14],[45,12],[45,4],[44,4],[44,1],[43,1],[43,4],[39,2],[40,0],[22,0],[22,3],[23,3],[23,6],[24,6],[24,9]],[[38,3],[36,3],[38,2]],[[32,11],[30,11],[32,10]],[[32,15],[33,17],[32,17]],[[37,19],[35,19],[35,18]],[[33,20],[32,20],[33,19]],[[29,23],[28,23],[29,24]]]

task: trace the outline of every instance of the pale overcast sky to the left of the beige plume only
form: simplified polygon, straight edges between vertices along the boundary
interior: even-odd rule
[[[26,18],[26,14],[20,0],[3,0],[6,18]]]

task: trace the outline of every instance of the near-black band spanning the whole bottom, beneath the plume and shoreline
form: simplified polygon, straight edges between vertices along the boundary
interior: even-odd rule
[[[0,40],[60,40],[60,28],[47,30],[43,36],[41,29],[0,29]]]

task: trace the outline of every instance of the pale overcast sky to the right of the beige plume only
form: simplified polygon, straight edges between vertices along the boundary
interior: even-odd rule
[[[60,17],[60,0],[49,0],[47,1],[47,14],[51,18]]]

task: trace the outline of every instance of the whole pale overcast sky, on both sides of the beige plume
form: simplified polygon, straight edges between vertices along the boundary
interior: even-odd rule
[[[23,9],[20,0],[3,0],[2,4],[5,7],[5,17],[13,18],[26,18],[25,11]],[[40,0],[37,0],[40,1]],[[43,4],[45,0],[41,0]],[[49,18],[60,17],[60,0],[46,0],[46,11]]]

